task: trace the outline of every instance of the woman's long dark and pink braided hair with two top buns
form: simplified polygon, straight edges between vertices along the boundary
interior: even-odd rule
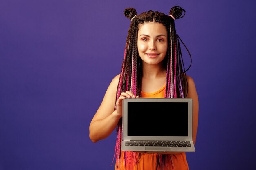
[[[186,80],[186,71],[184,71],[184,63],[180,48],[180,37],[176,33],[174,18],[179,19],[184,17],[185,10],[179,6],[171,8],[169,15],[160,13],[158,11],[147,11],[137,14],[134,8],[126,8],[124,15],[131,20],[130,28],[126,39],[126,46],[124,51],[124,60],[121,67],[121,74],[117,86],[116,100],[120,97],[122,92],[130,91],[134,95],[141,96],[141,82],[142,82],[142,61],[137,49],[137,36],[139,24],[147,22],[159,22],[167,29],[168,34],[168,49],[166,57],[164,58],[164,67],[166,69],[166,98],[183,98],[186,97],[188,85]],[[171,15],[171,16],[170,16]],[[180,41],[179,41],[180,40]],[[184,45],[184,43],[182,42]],[[185,46],[185,45],[184,45]],[[185,46],[186,48],[186,46]],[[189,50],[186,48],[189,53]],[[190,55],[190,53],[189,53]],[[190,55],[191,58],[191,55]],[[192,61],[192,60],[191,60]],[[135,163],[138,162],[140,154],[133,152],[124,152],[124,160],[119,160],[121,157],[121,141],[122,141],[122,120],[116,127],[117,141],[115,148],[116,166],[118,167],[120,161],[124,161],[126,169],[132,169]],[[158,166],[163,165],[162,161],[168,159],[165,155],[160,155],[158,158]],[[169,158],[171,159],[171,157]],[[162,161],[161,161],[162,160]],[[164,168],[162,168],[164,169]]]

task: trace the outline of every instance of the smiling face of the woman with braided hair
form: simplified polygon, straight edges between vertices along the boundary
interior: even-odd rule
[[[138,52],[146,64],[159,64],[167,52],[167,30],[158,22],[139,24]]]

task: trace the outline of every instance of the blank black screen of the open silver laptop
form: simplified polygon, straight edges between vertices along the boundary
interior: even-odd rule
[[[128,102],[128,136],[188,136],[188,103]]]

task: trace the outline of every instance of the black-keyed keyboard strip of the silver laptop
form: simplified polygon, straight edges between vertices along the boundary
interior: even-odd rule
[[[126,141],[125,146],[191,147],[189,141]]]

